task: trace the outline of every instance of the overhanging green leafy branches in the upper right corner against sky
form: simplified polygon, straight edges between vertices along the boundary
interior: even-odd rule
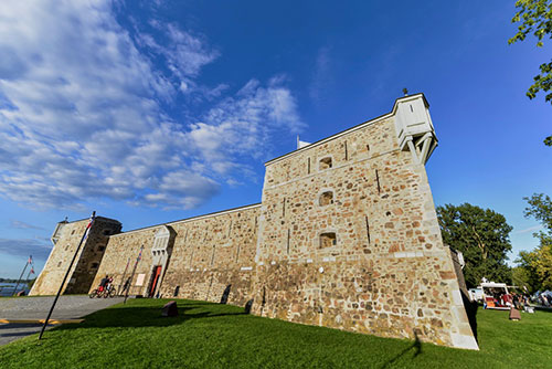
[[[552,39],[552,0],[518,0],[518,12],[512,23],[520,22],[518,33],[508,40],[509,44],[526,40],[532,33],[537,38],[537,46],[542,48],[543,39]],[[534,98],[540,91],[546,93],[545,101],[552,104],[552,60],[539,66],[540,73],[533,77],[533,84],[526,95]],[[544,139],[544,145],[552,146],[552,136]]]

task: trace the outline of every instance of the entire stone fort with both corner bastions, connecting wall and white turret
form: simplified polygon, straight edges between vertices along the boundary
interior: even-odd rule
[[[64,286],[251,306],[259,316],[477,349],[425,164],[423,94],[265,164],[261,203],[121,232],[98,217]],[[31,295],[53,295],[88,220],[57,223]],[[253,305],[251,305],[253,304]]]

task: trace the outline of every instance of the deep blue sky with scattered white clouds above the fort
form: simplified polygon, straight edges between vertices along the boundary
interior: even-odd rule
[[[0,8],[0,277],[55,223],[124,230],[261,201],[264,162],[423,92],[436,204],[470,202],[537,245],[552,45],[508,45],[513,1],[7,1]]]

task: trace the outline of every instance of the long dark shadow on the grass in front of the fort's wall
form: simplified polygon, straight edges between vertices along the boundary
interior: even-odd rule
[[[179,306],[179,315],[176,317],[161,316],[161,307],[159,306],[129,306],[107,308],[86,316],[85,321],[81,324],[62,325],[60,327],[56,327],[55,330],[107,327],[167,327],[183,324],[192,319],[246,315],[243,312],[212,312],[206,310],[206,307],[208,306],[203,304]],[[198,312],[190,312],[193,309],[198,309]]]

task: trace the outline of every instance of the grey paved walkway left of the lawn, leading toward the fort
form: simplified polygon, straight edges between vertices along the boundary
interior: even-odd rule
[[[45,319],[54,297],[0,298],[0,318]],[[89,298],[88,296],[61,296],[55,304],[53,319],[75,319],[100,310],[123,297]],[[39,333],[40,324],[0,324],[0,346],[24,336]],[[52,327],[52,326],[49,326]]]

